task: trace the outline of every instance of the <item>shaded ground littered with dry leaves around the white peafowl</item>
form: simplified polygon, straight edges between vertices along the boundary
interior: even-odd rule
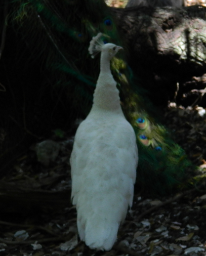
[[[25,202],[15,213],[9,212],[8,209],[4,213],[1,211],[0,255],[206,255],[204,110],[197,106],[183,108],[175,103],[170,103],[165,109],[167,126],[174,132],[176,141],[187,151],[191,161],[202,167],[198,172],[199,177],[202,176],[201,182],[197,187],[191,186],[183,192],[166,197],[148,197],[144,191],[135,189],[132,210],[127,214],[119,230],[118,241],[110,252],[90,250],[78,238],[76,210],[70,203],[71,178],[68,163],[74,137],[65,135],[60,141],[54,142],[57,143],[53,145],[58,149],[57,156],[52,155],[46,160],[39,159],[39,162],[37,151],[34,151],[33,147],[29,149],[17,160],[4,182],[18,184],[27,193],[38,190],[39,203],[35,204],[36,199],[31,196],[31,202],[34,204],[32,211],[27,209],[29,202]],[[195,144],[195,147],[191,143]],[[68,203],[62,206],[61,199],[56,199],[55,196],[51,203],[56,209],[46,207],[45,191],[54,195],[56,192],[66,191]],[[41,201],[45,208],[39,205]]]

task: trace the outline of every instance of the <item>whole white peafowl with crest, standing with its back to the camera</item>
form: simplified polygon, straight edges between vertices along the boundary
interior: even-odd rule
[[[101,36],[89,46],[92,57],[101,51],[100,74],[91,111],[75,135],[71,198],[81,240],[91,249],[110,250],[132,206],[138,151],[110,70],[110,60],[122,47],[104,44]]]

